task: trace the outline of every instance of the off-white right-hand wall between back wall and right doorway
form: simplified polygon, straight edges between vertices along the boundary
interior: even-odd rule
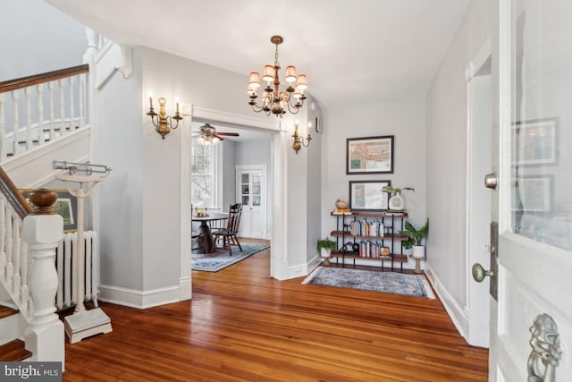
[[[496,2],[473,1],[426,98],[427,262],[442,299],[459,324],[467,307],[466,68],[493,33]],[[493,62],[497,59],[493,55]],[[494,66],[494,64],[493,64]],[[462,323],[461,323],[462,326]]]

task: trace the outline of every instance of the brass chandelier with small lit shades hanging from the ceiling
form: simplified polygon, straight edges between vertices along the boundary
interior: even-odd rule
[[[282,36],[273,36],[270,41],[276,46],[274,53],[274,64],[265,65],[262,72],[262,80],[266,82],[266,87],[261,96],[262,104],[257,104],[258,88],[260,88],[260,74],[251,72],[248,79],[248,95],[250,100],[248,105],[252,106],[252,110],[256,113],[265,112],[265,115],[271,113],[276,116],[286,114],[286,109],[291,114],[297,114],[300,107],[304,106],[304,90],[307,89],[306,74],[297,74],[295,66],[286,66],[286,76],[284,81],[288,84],[286,89],[280,90],[280,79],[278,71],[280,64],[278,63],[278,46],[282,44],[284,39]]]

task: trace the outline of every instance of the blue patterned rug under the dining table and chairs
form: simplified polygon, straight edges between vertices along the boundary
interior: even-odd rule
[[[233,245],[231,247],[232,255],[229,255],[229,250],[220,248],[217,248],[214,253],[196,253],[197,251],[193,250],[193,270],[218,272],[225,267],[230,267],[232,264],[247,259],[248,256],[252,256],[270,247],[270,245],[267,244],[240,243],[240,245],[242,246],[242,252],[240,252],[239,247]]]

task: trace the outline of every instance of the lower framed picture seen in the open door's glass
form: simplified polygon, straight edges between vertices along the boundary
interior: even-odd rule
[[[551,175],[529,175],[514,179],[512,209],[517,212],[550,212],[552,182]]]

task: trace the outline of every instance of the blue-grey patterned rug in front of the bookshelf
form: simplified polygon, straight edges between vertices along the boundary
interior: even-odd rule
[[[396,272],[351,269],[342,267],[317,267],[302,284],[337,286],[383,293],[434,299],[435,295],[427,278]]]

